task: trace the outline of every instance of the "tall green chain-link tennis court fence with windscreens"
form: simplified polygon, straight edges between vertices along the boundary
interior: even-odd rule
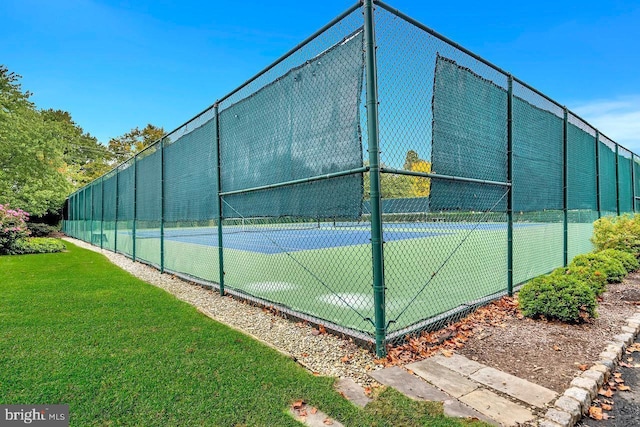
[[[382,355],[640,208],[638,156],[374,3],[69,196],[65,233]]]

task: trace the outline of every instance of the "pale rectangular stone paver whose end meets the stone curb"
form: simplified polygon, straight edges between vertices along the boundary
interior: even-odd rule
[[[483,368],[470,378],[538,408],[558,397],[555,391],[494,368]]]

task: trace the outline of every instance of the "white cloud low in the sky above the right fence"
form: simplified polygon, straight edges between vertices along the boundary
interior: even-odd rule
[[[640,95],[576,103],[571,110],[615,142],[640,154]]]

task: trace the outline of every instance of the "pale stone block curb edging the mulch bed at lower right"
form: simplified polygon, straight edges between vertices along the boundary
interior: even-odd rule
[[[638,334],[640,311],[629,317],[627,324],[622,327],[622,333],[607,343],[604,351],[600,353],[600,360],[571,381],[571,386],[554,402],[554,406],[544,417],[538,420],[538,426],[573,427],[589,411],[599,388],[617,368],[626,347],[635,341]]]

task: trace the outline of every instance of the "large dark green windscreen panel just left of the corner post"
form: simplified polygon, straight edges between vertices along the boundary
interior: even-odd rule
[[[358,106],[363,35],[293,68],[220,113],[223,191],[309,178],[362,166]],[[362,177],[225,198],[225,217],[359,217]],[[261,202],[262,200],[262,202]]]

